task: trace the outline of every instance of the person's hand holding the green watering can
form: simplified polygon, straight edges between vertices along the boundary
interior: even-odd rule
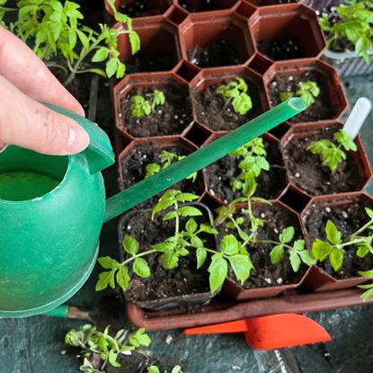
[[[40,102],[84,116],[79,102],[41,59],[0,27],[0,148],[16,145],[49,155],[84,150],[89,144],[84,129]]]

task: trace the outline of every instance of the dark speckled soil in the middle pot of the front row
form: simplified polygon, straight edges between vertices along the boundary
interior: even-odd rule
[[[257,205],[253,207],[255,217],[264,218],[266,223],[259,227],[258,240],[276,240],[282,229],[288,226],[294,226],[296,229],[295,239],[303,238],[298,223],[298,218],[289,214],[286,210],[281,209],[278,205]],[[249,231],[249,221],[246,220],[242,227],[245,232]],[[236,235],[235,230],[218,227],[219,237],[226,234]],[[250,278],[244,283],[244,289],[269,288],[272,286],[287,285],[296,283],[305,271],[305,266],[300,268],[298,273],[294,272],[289,262],[289,255],[286,253],[282,261],[277,264],[271,264],[272,244],[253,244],[247,245],[246,249],[250,253],[253,262],[253,270]],[[232,279],[235,275],[231,273]]]

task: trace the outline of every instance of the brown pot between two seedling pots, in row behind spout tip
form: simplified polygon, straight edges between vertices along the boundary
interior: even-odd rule
[[[218,85],[227,84],[236,77],[244,78],[247,94],[253,102],[253,108],[244,115],[234,111],[232,100],[216,93]],[[202,70],[193,78],[190,86],[194,118],[212,132],[236,129],[268,110],[262,77],[247,67]]]

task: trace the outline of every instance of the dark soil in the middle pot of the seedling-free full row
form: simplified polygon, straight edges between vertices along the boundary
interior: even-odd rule
[[[205,47],[196,45],[193,49],[189,49],[188,59],[199,67],[223,67],[239,65],[243,62],[240,61],[235,45],[223,37],[210,42]]]

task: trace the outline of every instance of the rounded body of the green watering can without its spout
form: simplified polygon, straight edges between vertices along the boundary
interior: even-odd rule
[[[95,136],[104,143],[104,162],[93,147],[88,154],[61,157],[8,147],[0,155],[0,173],[36,173],[58,181],[38,198],[0,200],[0,316],[46,312],[72,297],[93,271],[105,210],[98,169],[114,162],[109,139],[93,130],[91,144]]]

